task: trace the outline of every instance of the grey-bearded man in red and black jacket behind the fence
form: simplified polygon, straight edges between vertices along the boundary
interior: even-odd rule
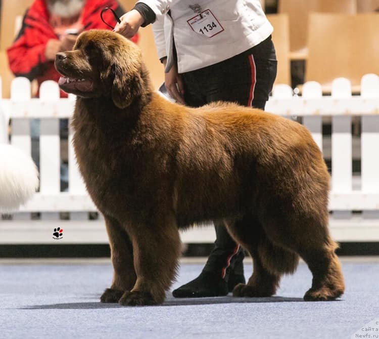
[[[22,28],[8,49],[9,65],[16,76],[58,81],[54,67],[58,52],[71,50],[77,34],[93,28],[110,29],[100,17],[105,7],[121,16],[124,11],[116,0],[35,0],[27,10]],[[116,19],[109,12],[104,19],[111,26]],[[132,40],[137,41],[134,35]],[[61,91],[61,97],[67,94]]]

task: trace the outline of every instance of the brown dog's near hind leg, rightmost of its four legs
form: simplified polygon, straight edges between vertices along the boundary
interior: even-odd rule
[[[264,224],[273,243],[293,250],[304,259],[313,275],[312,287],[304,300],[334,300],[343,294],[345,285],[341,265],[335,253],[338,245],[330,238],[327,228],[327,207],[317,213],[288,210],[279,216],[268,213]]]

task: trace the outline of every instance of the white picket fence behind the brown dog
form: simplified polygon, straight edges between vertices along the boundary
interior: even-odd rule
[[[276,86],[266,110],[287,116],[302,117],[331,159],[332,173],[329,210],[330,229],[339,241],[379,241],[379,77],[362,78],[360,96],[352,96],[350,82],[339,78],[333,83],[331,96],[322,96],[321,86],[308,82],[302,96],[292,89]],[[1,91],[0,91],[1,93]],[[40,119],[40,192],[12,220],[0,220],[0,244],[16,243],[106,243],[104,219],[89,220],[96,211],[87,195],[75,162],[69,130],[69,188],[60,192],[59,119],[71,118],[74,97],[59,98],[54,81],[41,85],[40,98],[30,98],[30,82],[16,78],[12,82],[11,99],[0,100],[0,142],[7,142],[8,123],[11,143],[31,153],[30,119]],[[361,135],[353,137],[352,118],[360,119]],[[331,123],[331,138],[322,137],[322,121]],[[324,140],[323,140],[324,139]],[[352,159],[360,159],[361,173],[353,176]],[[6,161],[6,159],[0,159]],[[34,220],[32,213],[40,213]],[[60,212],[68,212],[70,220],[61,220]],[[4,219],[4,218],[3,218]],[[64,229],[64,237],[54,240],[53,229]],[[194,228],[182,234],[186,243],[213,242],[213,227]]]

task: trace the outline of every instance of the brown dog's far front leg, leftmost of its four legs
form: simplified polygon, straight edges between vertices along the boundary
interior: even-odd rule
[[[111,258],[113,264],[113,282],[102,294],[102,303],[118,303],[122,294],[133,288],[136,280],[133,264],[133,247],[128,234],[121,224],[107,215],[104,216]]]

